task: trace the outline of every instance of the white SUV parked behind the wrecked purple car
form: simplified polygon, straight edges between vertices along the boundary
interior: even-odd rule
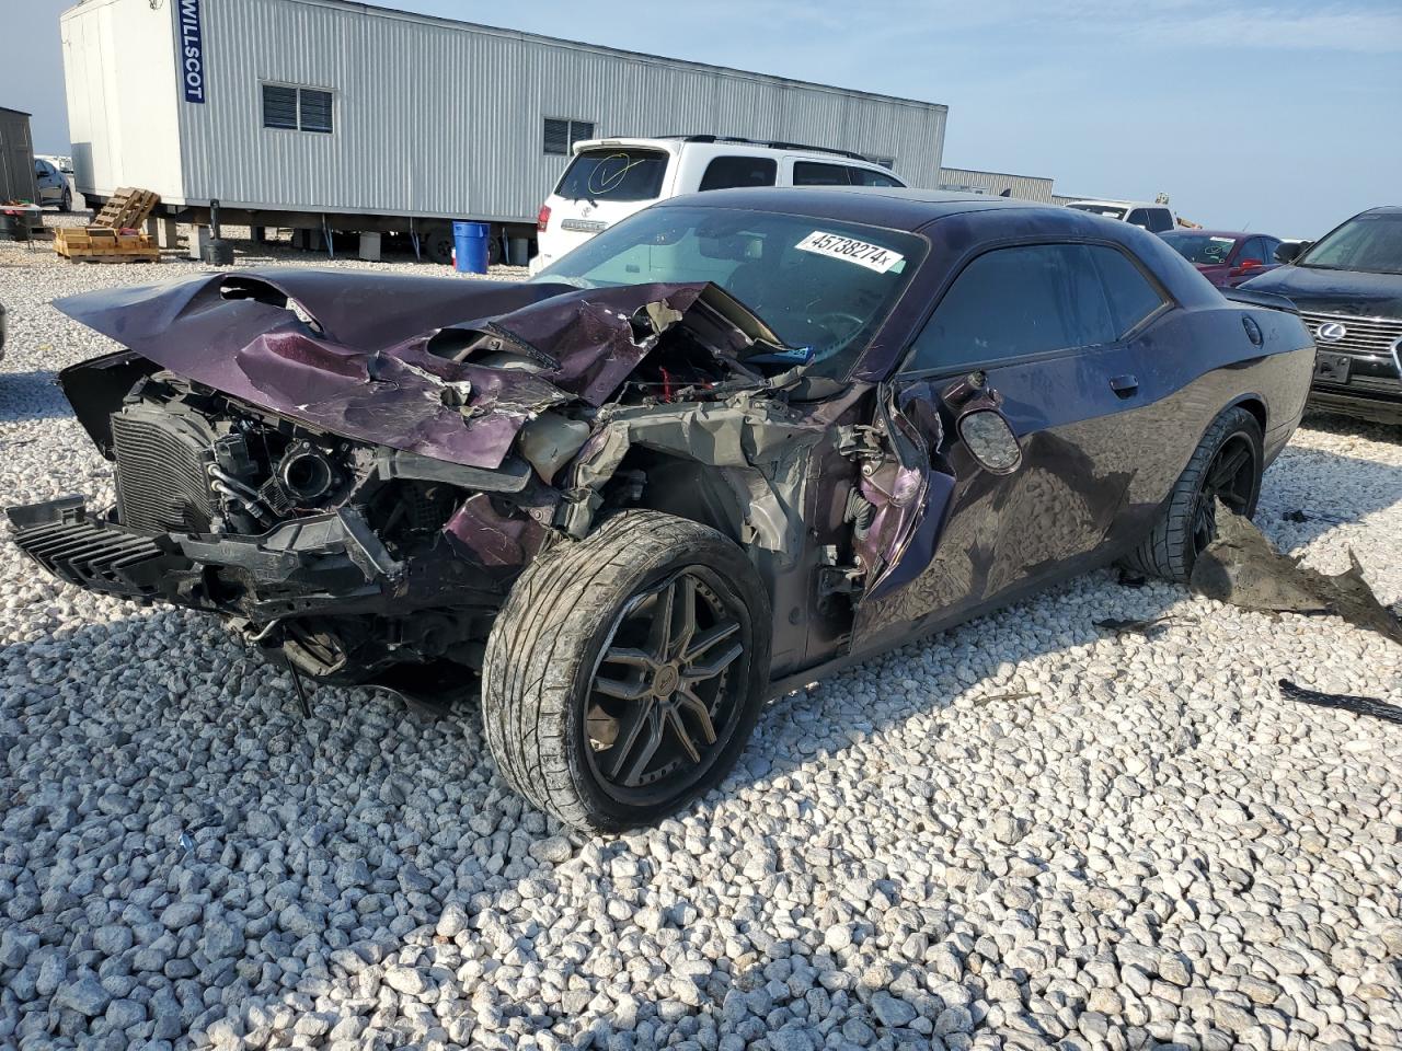
[[[858,153],[715,135],[586,139],[545,198],[530,272],[665,198],[729,186],[904,186]]]

